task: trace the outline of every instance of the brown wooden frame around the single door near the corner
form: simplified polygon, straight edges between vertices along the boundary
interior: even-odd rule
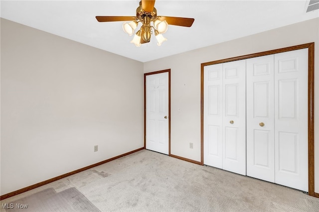
[[[147,124],[146,124],[146,103],[147,103],[147,94],[146,94],[146,76],[160,74],[168,72],[168,155],[170,156],[170,69],[150,72],[144,74],[144,149],[146,149],[146,132],[147,132]]]

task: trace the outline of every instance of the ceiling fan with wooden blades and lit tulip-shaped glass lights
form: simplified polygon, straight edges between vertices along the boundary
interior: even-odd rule
[[[150,42],[153,31],[160,46],[167,40],[162,34],[167,31],[168,24],[190,27],[194,22],[194,18],[158,16],[154,4],[155,0],[141,0],[140,6],[136,9],[136,16],[96,16],[96,19],[99,22],[131,21],[123,23],[123,30],[130,36],[135,33],[138,24],[142,23],[140,30],[135,33],[131,41],[138,47]]]

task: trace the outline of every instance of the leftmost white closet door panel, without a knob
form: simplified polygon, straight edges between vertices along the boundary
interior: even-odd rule
[[[204,163],[223,168],[223,64],[204,67]]]

